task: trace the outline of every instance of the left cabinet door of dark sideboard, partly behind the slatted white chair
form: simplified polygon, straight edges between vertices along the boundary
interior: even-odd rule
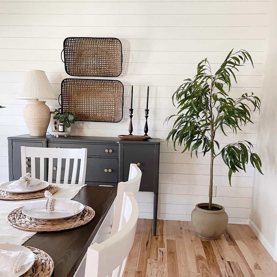
[[[29,147],[43,147],[42,142],[23,142],[23,141],[13,141],[12,142],[12,175],[10,175],[10,181],[18,180],[21,175],[21,146]],[[31,172],[31,162],[30,157],[27,157],[28,162],[26,165],[26,172]],[[45,173],[44,173],[45,176]],[[13,178],[11,178],[13,177]],[[32,176],[33,177],[33,176]],[[39,163],[36,162],[36,178],[39,178]]]

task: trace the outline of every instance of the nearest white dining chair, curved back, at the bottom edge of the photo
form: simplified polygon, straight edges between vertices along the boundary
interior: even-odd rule
[[[104,242],[94,243],[88,248],[85,277],[123,276],[139,216],[138,203],[132,192],[124,192],[123,202],[119,231]]]

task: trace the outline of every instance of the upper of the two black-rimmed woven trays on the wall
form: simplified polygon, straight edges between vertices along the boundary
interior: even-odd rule
[[[66,38],[64,66],[71,76],[117,77],[122,72],[122,45],[117,38]]]

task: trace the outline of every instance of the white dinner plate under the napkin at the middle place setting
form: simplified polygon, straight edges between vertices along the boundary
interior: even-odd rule
[[[59,201],[62,201],[63,199],[59,199]],[[77,202],[74,200],[67,200],[66,201],[72,201]],[[30,216],[35,219],[42,219],[42,220],[54,220],[54,219],[65,219],[70,216],[78,215],[80,212],[82,212],[84,209],[84,205],[80,203],[80,208],[77,213],[73,214],[67,211],[53,211],[49,212],[46,209],[34,209],[33,207],[23,207],[22,213],[24,215]]]

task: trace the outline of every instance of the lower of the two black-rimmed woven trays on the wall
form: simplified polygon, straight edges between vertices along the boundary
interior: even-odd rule
[[[62,81],[62,112],[78,121],[119,122],[123,114],[123,85],[116,80],[67,78]]]

